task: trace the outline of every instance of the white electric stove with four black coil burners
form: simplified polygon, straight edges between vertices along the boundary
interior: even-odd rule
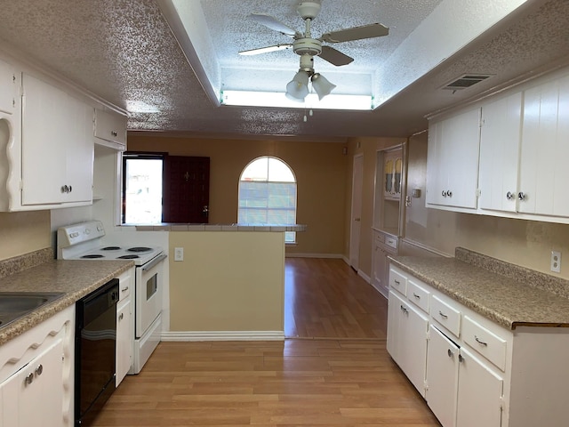
[[[81,222],[57,230],[60,260],[132,260],[134,275],[134,351],[131,374],[138,374],[160,342],[164,259],[158,246],[103,244],[102,222]]]

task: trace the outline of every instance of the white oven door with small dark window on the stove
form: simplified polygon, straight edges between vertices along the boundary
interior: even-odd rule
[[[165,259],[166,255],[160,254],[136,267],[136,338],[144,334],[162,311]]]

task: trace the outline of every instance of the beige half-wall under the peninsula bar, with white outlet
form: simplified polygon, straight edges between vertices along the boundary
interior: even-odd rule
[[[284,233],[171,232],[171,331],[284,331]]]

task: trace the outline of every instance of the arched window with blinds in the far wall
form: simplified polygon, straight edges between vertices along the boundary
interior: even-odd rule
[[[276,157],[258,157],[246,165],[239,178],[241,224],[284,225],[296,223],[296,178],[293,170]],[[287,231],[286,243],[296,241],[296,233]]]

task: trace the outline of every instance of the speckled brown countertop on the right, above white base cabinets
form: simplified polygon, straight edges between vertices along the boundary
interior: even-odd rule
[[[455,258],[389,257],[393,265],[495,323],[569,327],[569,282],[457,248]]]

